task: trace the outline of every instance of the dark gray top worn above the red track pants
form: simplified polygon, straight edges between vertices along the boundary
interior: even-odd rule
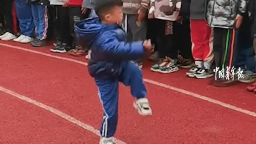
[[[190,2],[190,19],[206,19],[206,0],[191,0]]]

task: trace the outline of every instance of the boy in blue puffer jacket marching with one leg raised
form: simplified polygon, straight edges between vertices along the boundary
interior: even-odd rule
[[[83,48],[90,48],[88,71],[98,87],[103,107],[100,128],[100,144],[114,144],[118,117],[118,81],[130,86],[136,98],[134,107],[141,115],[151,115],[143,83],[142,73],[130,60],[151,50],[151,42],[125,42],[126,34],[118,24],[122,23],[122,0],[95,0],[99,18],[88,18],[75,24],[75,31]]]

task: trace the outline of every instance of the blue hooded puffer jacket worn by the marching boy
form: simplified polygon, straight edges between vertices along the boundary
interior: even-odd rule
[[[102,24],[99,18],[88,18],[75,24],[78,42],[89,48],[88,70],[94,78],[116,78],[122,64],[144,53],[142,41],[126,42],[126,34],[117,24]]]

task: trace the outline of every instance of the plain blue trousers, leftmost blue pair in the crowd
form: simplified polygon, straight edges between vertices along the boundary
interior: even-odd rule
[[[26,0],[14,0],[14,3],[21,34],[32,37],[35,26],[32,17],[31,4],[27,3]]]

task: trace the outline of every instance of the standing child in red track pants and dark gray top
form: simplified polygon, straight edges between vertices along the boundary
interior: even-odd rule
[[[213,76],[211,69],[214,58],[213,30],[206,21],[206,6],[206,0],[191,0],[190,2],[192,56],[196,66],[192,67],[186,75],[200,79]]]

